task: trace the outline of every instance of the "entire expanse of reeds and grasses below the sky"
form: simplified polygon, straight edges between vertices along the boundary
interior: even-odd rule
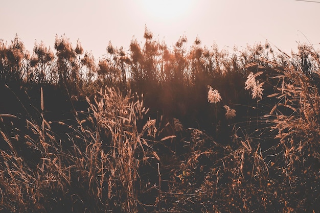
[[[318,212],[317,50],[144,39],[0,41],[0,212]]]

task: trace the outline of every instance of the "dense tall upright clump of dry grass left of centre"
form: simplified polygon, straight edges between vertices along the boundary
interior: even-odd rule
[[[139,166],[152,154],[143,136],[154,130],[153,125],[149,121],[139,127],[147,110],[143,101],[135,98],[130,93],[122,97],[115,89],[101,89],[93,103],[87,99],[92,110],[88,120],[94,131],[83,128],[81,122],[78,127],[86,146],[78,157],[83,162],[77,167],[92,190],[90,195],[106,203],[113,200],[108,209],[119,207],[122,212],[137,211]]]

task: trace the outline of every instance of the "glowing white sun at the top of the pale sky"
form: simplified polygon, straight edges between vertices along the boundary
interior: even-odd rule
[[[188,15],[195,0],[142,0],[149,17],[157,21],[177,20]]]

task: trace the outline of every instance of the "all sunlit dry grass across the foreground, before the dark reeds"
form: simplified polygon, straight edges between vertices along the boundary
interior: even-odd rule
[[[176,137],[159,139],[143,97],[113,88],[87,98],[89,109],[75,111],[73,122],[57,122],[66,129],[58,135],[45,120],[41,89],[36,117],[0,115],[0,211],[316,212],[319,55],[301,46],[276,57],[268,48],[260,45],[243,66],[252,73],[243,90],[259,98],[257,131],[234,125],[228,145],[178,119]],[[225,109],[223,119],[236,115]]]

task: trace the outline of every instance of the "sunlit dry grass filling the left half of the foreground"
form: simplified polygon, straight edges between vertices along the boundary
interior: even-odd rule
[[[143,125],[148,110],[130,92],[101,89],[87,101],[75,124],[57,122],[70,130],[60,136],[44,119],[42,89],[39,119],[22,121],[26,128],[14,127],[17,116],[0,115],[13,122],[0,130],[1,210],[138,212],[139,168],[159,160],[144,139],[156,135],[155,120]]]

